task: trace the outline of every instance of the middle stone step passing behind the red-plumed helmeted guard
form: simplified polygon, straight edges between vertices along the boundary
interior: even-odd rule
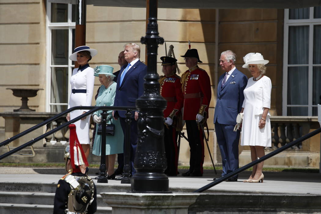
[[[55,193],[34,192],[0,192],[0,201],[8,204],[43,204],[54,205]],[[105,207],[106,203],[97,194],[97,206]]]

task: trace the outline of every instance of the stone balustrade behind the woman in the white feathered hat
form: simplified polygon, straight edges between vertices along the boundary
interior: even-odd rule
[[[271,116],[272,146],[265,148],[265,154],[276,150],[318,128],[317,116]],[[251,162],[248,146],[239,146],[239,164]],[[265,167],[319,167],[320,134],[265,160]]]

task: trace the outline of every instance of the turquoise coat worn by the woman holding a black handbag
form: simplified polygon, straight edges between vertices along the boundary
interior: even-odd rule
[[[114,106],[114,100],[116,95],[116,82],[112,83],[108,89],[104,85],[100,86],[98,97],[96,99],[95,106]],[[102,110],[96,111],[93,115],[100,116]],[[124,133],[121,128],[119,120],[115,120],[112,116],[112,111],[107,111],[107,123],[110,124],[110,120],[115,124],[115,135],[106,136],[106,155],[123,153]],[[97,134],[98,125],[96,125],[96,136],[94,139],[94,145],[92,147],[92,154],[101,155],[101,135]]]

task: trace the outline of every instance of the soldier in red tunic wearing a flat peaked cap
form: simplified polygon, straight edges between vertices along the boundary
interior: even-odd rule
[[[163,66],[164,76],[160,76],[160,95],[167,100],[167,107],[164,110],[164,146],[167,159],[165,174],[176,176],[178,174],[178,132],[182,131],[183,93],[180,77],[176,74],[177,59],[162,56],[160,57]]]

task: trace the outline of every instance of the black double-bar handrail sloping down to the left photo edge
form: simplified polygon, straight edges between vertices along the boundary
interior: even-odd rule
[[[9,139],[1,142],[0,143],[0,147],[4,146],[4,145],[6,145],[6,144],[8,144],[8,143],[10,143],[10,142],[22,137],[22,136],[24,136],[24,135],[34,131],[35,129],[38,129],[39,127],[41,127],[43,125],[46,125],[46,124],[48,124],[48,123],[60,118],[61,116],[64,116],[65,114],[67,114],[67,113],[69,113],[71,111],[74,111],[74,110],[89,110],[89,111],[84,113],[84,114],[82,114],[82,115],[80,115],[80,116],[78,116],[78,117],[76,117],[76,118],[74,118],[74,119],[72,119],[72,120],[70,120],[70,121],[68,121],[68,122],[66,122],[66,123],[64,123],[64,124],[61,124],[60,126],[56,127],[55,129],[50,130],[49,132],[46,132],[46,133],[40,135],[39,137],[32,139],[29,142],[24,143],[23,145],[21,145],[21,146],[19,146],[17,148],[14,148],[13,150],[8,151],[7,153],[4,153],[3,155],[0,155],[0,160],[2,160],[3,158],[8,157],[9,155],[12,155],[12,154],[20,151],[20,150],[22,150],[22,149],[24,149],[24,148],[26,148],[28,146],[31,146],[32,144],[36,143],[37,141],[44,139],[45,137],[47,137],[47,136],[49,136],[49,135],[51,135],[51,134],[53,134],[53,133],[55,133],[55,132],[57,132],[57,131],[65,128],[65,127],[67,127],[69,124],[72,124],[72,123],[80,120],[81,118],[92,114],[95,111],[98,111],[98,110],[135,111],[137,109],[136,109],[136,107],[132,107],[132,106],[98,106],[98,107],[95,107],[95,106],[77,106],[77,107],[72,107],[72,108],[67,109],[64,112],[61,112],[60,114],[58,114],[56,116],[53,116],[53,117],[49,118],[48,120],[45,120],[44,122],[42,122],[40,124],[37,124],[37,125],[31,127],[30,129],[27,129],[26,131],[24,131],[22,133],[19,133],[19,134],[13,136],[12,138],[9,138]]]

